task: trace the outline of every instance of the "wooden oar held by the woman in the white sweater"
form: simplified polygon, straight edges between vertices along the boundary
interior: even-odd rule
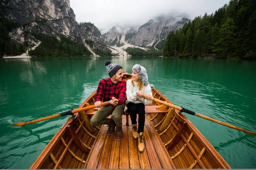
[[[146,96],[143,94],[142,97],[145,98]],[[216,120],[216,119],[210,118],[210,117],[208,117],[208,116],[205,116],[205,115],[196,113],[196,112],[194,112],[194,111],[190,111],[189,109],[185,109],[185,108],[183,108],[183,107],[179,107],[179,106],[176,106],[176,105],[172,105],[171,103],[167,103],[167,102],[164,102],[164,101],[162,101],[162,100],[155,99],[155,98],[153,98],[153,97],[151,97],[150,100],[155,101],[155,102],[158,102],[158,103],[161,103],[161,104],[166,105],[166,106],[169,106],[169,107],[171,107],[171,108],[175,108],[175,109],[179,110],[180,112],[189,113],[189,114],[191,114],[191,115],[195,115],[195,116],[201,117],[201,118],[203,118],[203,119],[207,119],[207,120],[209,120],[209,121],[212,121],[212,122],[215,122],[215,123],[218,123],[218,124],[227,126],[227,127],[231,127],[231,128],[233,128],[233,129],[236,129],[236,130],[240,130],[240,131],[242,131],[242,132],[244,132],[244,133],[247,133],[247,134],[250,134],[250,135],[256,135],[256,132],[252,132],[252,131],[249,131],[249,130],[244,130],[244,129],[240,128],[240,127],[236,127],[236,126],[227,124],[227,123],[225,123],[225,122],[221,122],[221,121],[219,121],[219,120]]]

